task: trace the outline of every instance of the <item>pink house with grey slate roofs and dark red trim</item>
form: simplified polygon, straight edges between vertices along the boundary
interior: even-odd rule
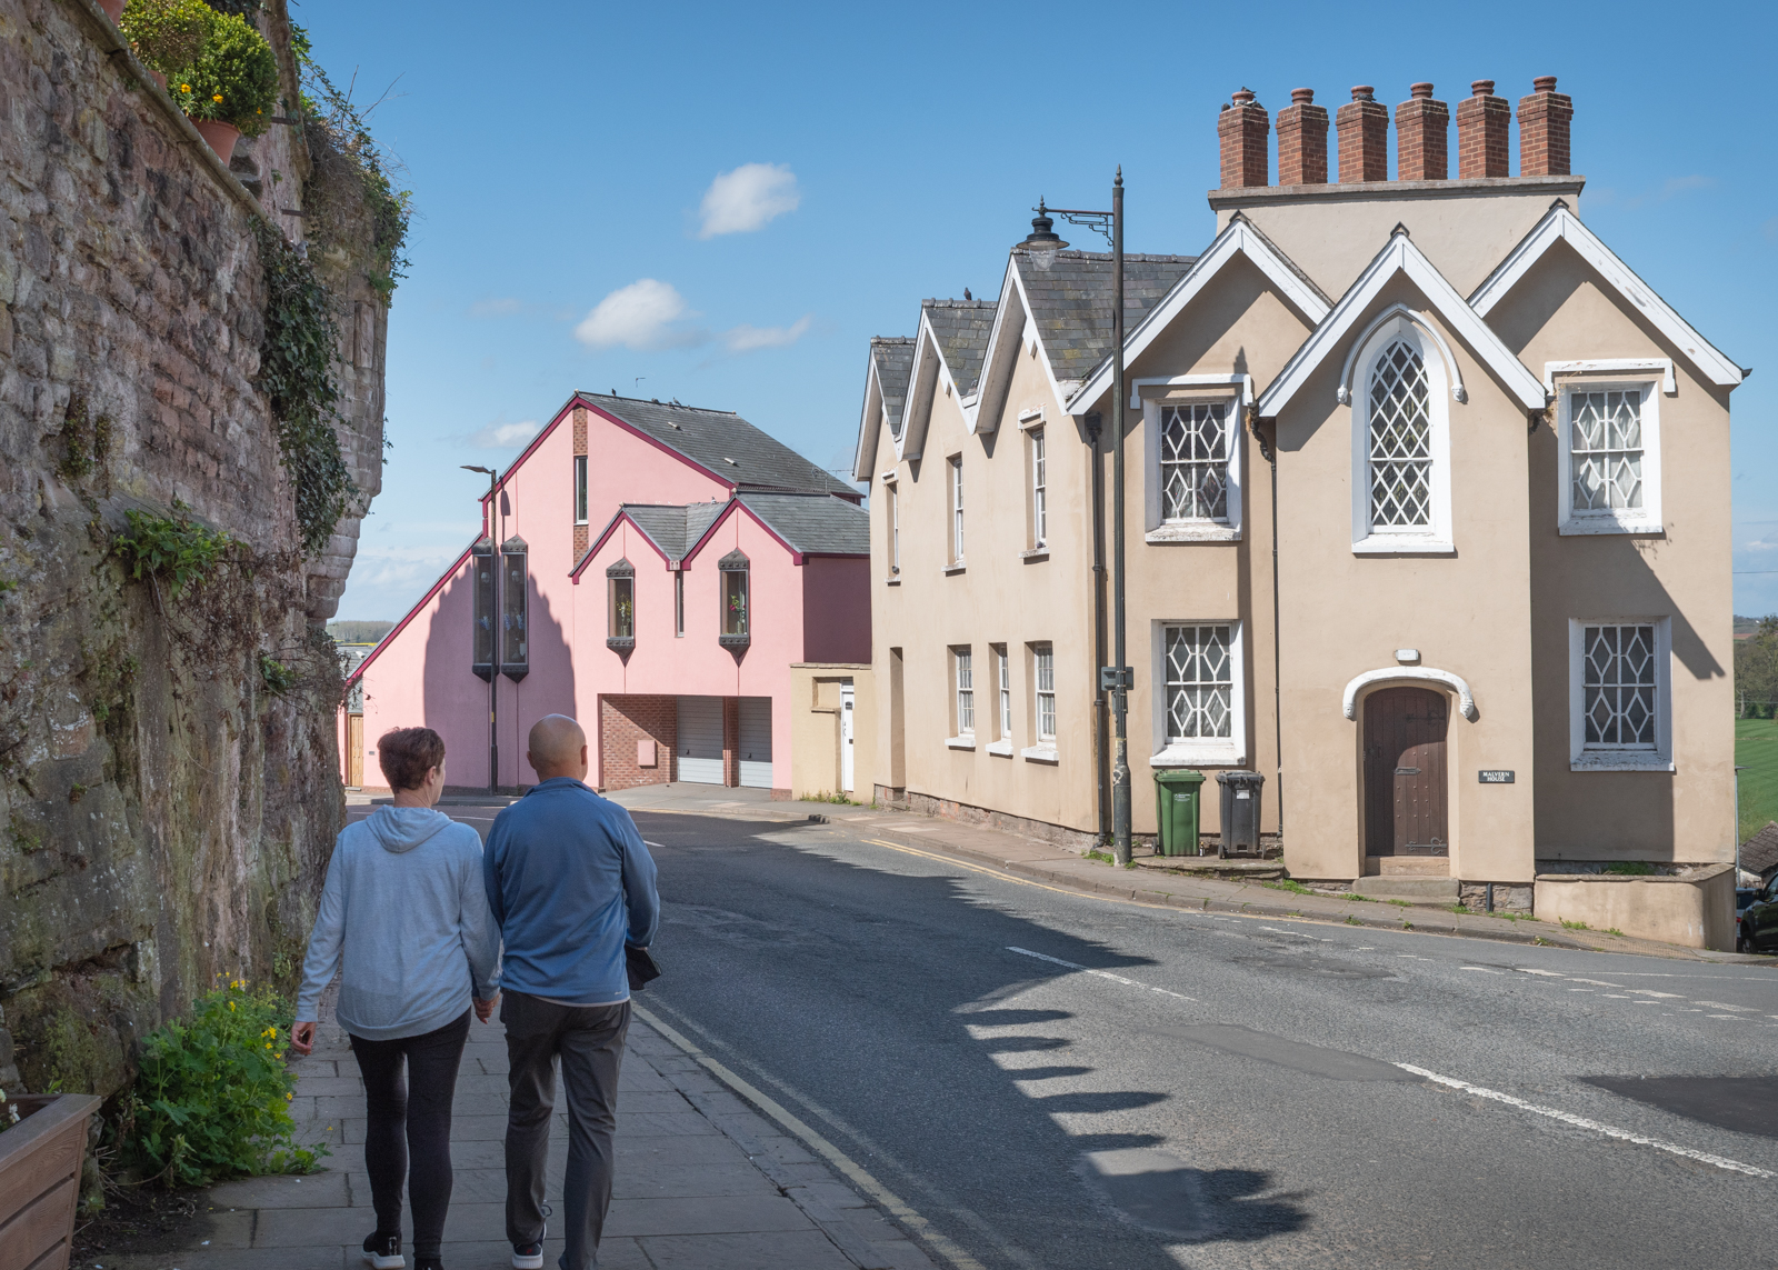
[[[345,783],[377,786],[375,738],[425,724],[452,786],[526,786],[526,733],[569,713],[597,788],[788,797],[791,663],[871,656],[859,500],[729,411],[576,393],[347,679]]]

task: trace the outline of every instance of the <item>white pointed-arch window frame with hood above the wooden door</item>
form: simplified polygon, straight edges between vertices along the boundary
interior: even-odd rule
[[[1414,345],[1426,366],[1431,425],[1431,512],[1424,526],[1371,525],[1371,372],[1396,340]],[[1444,349],[1406,313],[1383,322],[1357,359],[1351,381],[1351,550],[1353,555],[1456,555],[1451,534],[1451,379]]]

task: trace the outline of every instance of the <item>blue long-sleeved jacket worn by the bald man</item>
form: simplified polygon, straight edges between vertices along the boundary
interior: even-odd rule
[[[505,939],[501,989],[564,1005],[629,1000],[624,944],[654,943],[661,904],[628,811],[565,776],[535,784],[494,818],[482,877]]]

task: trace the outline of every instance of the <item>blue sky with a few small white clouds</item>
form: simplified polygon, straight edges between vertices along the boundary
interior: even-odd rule
[[[407,165],[384,491],[340,617],[396,619],[482,478],[576,388],[740,411],[850,461],[866,340],[992,295],[1042,194],[1131,251],[1213,235],[1216,112],[1431,80],[1575,98],[1582,217],[1753,375],[1734,395],[1735,608],[1778,612],[1773,5],[462,4],[292,0]],[[1108,73],[1120,78],[1108,82]],[[1113,92],[1115,89],[1115,92]],[[1515,126],[1517,171],[1517,126]],[[718,183],[718,178],[727,178]],[[1086,233],[1086,231],[1079,231]],[[1074,235],[1079,245],[1092,245]],[[1773,569],[1773,573],[1753,573]]]

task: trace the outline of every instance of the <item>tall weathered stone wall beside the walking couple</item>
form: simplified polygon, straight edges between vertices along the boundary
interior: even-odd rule
[[[263,27],[293,100],[281,0]],[[7,1089],[112,1092],[135,1041],[217,977],[288,985],[343,820],[320,623],[356,523],[300,557],[254,386],[251,219],[300,238],[286,208],[302,208],[306,144],[274,126],[233,169],[89,0],[0,0]],[[375,493],[384,306],[352,242],[332,256],[341,443]],[[185,594],[132,580],[110,550],[130,509],[174,507],[240,544]],[[295,687],[274,692],[261,656]]]

